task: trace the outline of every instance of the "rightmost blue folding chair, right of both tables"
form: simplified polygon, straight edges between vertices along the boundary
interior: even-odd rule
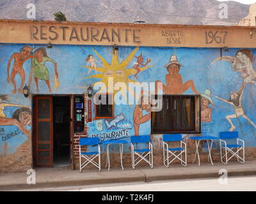
[[[236,139],[236,144],[228,144],[228,140],[234,140]],[[233,150],[233,149],[236,149]],[[225,150],[225,154],[223,155],[222,150]],[[239,152],[243,152],[243,156],[239,156]],[[228,158],[228,153],[231,154],[231,156]],[[228,161],[232,157],[237,157],[237,161],[239,163],[244,163],[244,141],[238,138],[237,132],[222,132],[220,133],[220,159],[221,163],[228,164]],[[225,157],[225,161],[223,161],[223,158]]]

